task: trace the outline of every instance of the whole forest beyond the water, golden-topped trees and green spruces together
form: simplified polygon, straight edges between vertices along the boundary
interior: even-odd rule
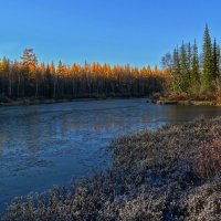
[[[221,53],[212,42],[208,25],[202,52],[182,42],[161,59],[162,69],[73,63],[39,63],[33,49],[20,61],[0,60],[0,101],[18,98],[141,97],[159,93],[165,97],[213,99],[221,94]],[[215,92],[215,93],[214,93]]]

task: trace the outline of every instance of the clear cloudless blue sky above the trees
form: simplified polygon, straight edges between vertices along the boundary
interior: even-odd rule
[[[146,66],[206,23],[221,42],[220,0],[0,0],[0,57],[32,48],[40,62]]]

